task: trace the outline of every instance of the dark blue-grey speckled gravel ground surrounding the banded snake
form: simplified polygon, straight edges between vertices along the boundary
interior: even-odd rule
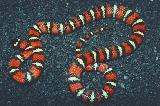
[[[0,0],[0,106],[82,106],[67,89],[66,72],[74,61],[74,42],[94,26],[108,24],[111,30],[91,40],[85,50],[119,44],[130,30],[121,22],[102,20],[61,37],[43,35],[46,64],[42,76],[31,85],[19,85],[7,75],[7,62],[19,51],[14,38],[27,39],[27,27],[38,20],[63,22],[96,4],[124,3],[139,11],[148,26],[144,44],[131,56],[110,61],[118,73],[114,96],[102,106],[160,105],[160,2],[159,0]],[[78,36],[77,36],[78,35]],[[112,36],[116,35],[116,36]],[[106,42],[107,41],[107,42]],[[28,62],[29,64],[30,62]],[[24,65],[23,68],[29,67]]]

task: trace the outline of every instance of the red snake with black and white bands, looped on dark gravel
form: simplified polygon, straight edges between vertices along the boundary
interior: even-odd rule
[[[20,49],[20,54],[15,55],[9,60],[9,73],[11,78],[20,84],[30,83],[39,78],[44,66],[45,55],[42,49],[41,34],[51,34],[60,36],[72,33],[75,29],[81,28],[95,20],[104,18],[114,18],[125,22],[131,29],[130,39],[122,42],[120,45],[113,45],[106,48],[98,48],[95,51],[81,53],[84,43],[90,40],[96,33],[105,30],[97,28],[95,31],[86,33],[84,38],[80,38],[76,43],[76,62],[71,64],[68,70],[68,82],[70,92],[81,97],[88,102],[99,102],[107,99],[113,94],[116,86],[117,75],[112,68],[108,67],[108,60],[115,60],[119,57],[130,55],[140,44],[146,32],[146,25],[140,17],[140,13],[126,8],[123,4],[111,5],[105,4],[95,6],[95,8],[84,11],[81,15],[74,16],[64,23],[40,21],[28,29],[29,40],[17,39],[15,47]],[[30,59],[32,65],[26,72],[21,70],[24,61]],[[107,80],[103,88],[97,91],[87,89],[81,82],[83,72],[98,71],[102,73]]]

